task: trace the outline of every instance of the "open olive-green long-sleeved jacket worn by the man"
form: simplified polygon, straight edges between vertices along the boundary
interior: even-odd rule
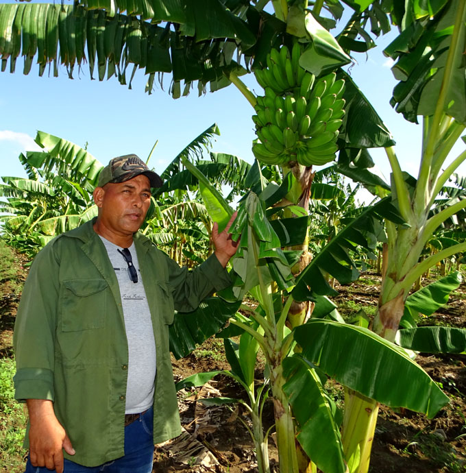
[[[181,433],[169,354],[173,311],[193,311],[230,278],[214,255],[188,272],[142,234],[134,243],[156,341],[158,444]],[[119,285],[92,221],[53,239],[34,258],[14,350],[15,398],[53,401],[76,451],[66,458],[96,466],[123,456],[127,340]]]

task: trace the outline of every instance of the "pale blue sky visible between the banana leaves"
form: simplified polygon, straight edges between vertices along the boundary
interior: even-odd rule
[[[380,46],[369,55],[358,54],[358,62],[349,72],[392,132],[402,169],[417,175],[421,127],[406,122],[389,105],[396,84],[390,61],[382,54],[389,39],[382,38],[378,43]],[[248,162],[254,160],[253,109],[234,86],[201,97],[193,90],[188,97],[174,100],[167,92],[168,76],[165,90],[158,86],[152,95],[144,92],[142,71],[136,73],[132,90],[121,86],[116,77],[91,81],[87,64],[82,71],[76,69],[73,76],[70,80],[63,67],[58,78],[48,77],[47,71],[38,77],[34,68],[25,76],[22,60],[17,62],[14,74],[0,73],[0,176],[25,175],[18,155],[35,149],[37,130],[82,147],[88,143],[88,151],[103,163],[129,153],[145,159],[158,140],[149,165],[162,171],[195,136],[217,123],[221,136],[213,150],[235,154]],[[245,82],[262,94],[252,75]],[[371,154],[389,179],[384,151],[373,150]],[[459,171],[466,174],[466,166],[463,164]]]

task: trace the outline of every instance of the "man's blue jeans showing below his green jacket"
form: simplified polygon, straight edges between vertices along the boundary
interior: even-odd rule
[[[151,473],[154,460],[154,408],[151,407],[125,427],[125,456],[103,465],[87,467],[64,459],[64,473]],[[45,467],[32,466],[27,458],[25,473],[54,473]]]

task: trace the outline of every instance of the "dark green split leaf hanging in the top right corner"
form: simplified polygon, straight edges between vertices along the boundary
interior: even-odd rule
[[[401,34],[384,49],[384,54],[397,60],[392,68],[400,82],[393,89],[391,105],[404,118],[417,123],[417,115],[432,115],[439,99],[439,90],[445,70],[445,60],[452,43],[456,15],[465,23],[465,10],[457,0],[428,2],[436,5],[433,11],[421,11],[423,2],[402,5],[402,18],[397,19]],[[396,16],[395,16],[396,18]],[[406,21],[410,19],[410,21]],[[456,28],[455,28],[456,29]],[[460,33],[458,31],[458,33]],[[461,123],[466,121],[464,27],[461,47],[454,58],[454,75],[447,89],[445,112]]]

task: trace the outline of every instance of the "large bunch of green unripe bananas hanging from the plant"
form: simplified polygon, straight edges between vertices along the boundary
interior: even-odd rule
[[[323,165],[334,160],[338,150],[345,81],[336,80],[335,73],[316,80],[299,66],[300,54],[297,43],[291,55],[286,46],[272,49],[268,68],[255,71],[265,95],[257,97],[252,117],[258,136],[252,150],[265,164]]]

